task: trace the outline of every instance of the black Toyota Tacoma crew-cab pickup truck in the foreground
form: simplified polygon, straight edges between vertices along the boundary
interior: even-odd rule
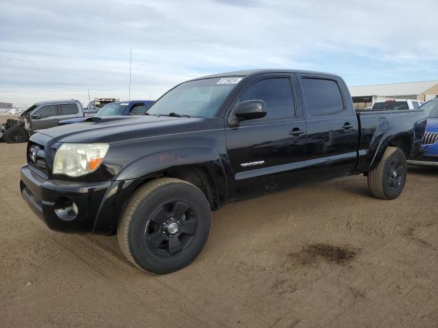
[[[32,135],[20,189],[49,228],[118,234],[133,264],[169,273],[201,253],[227,202],[351,174],[397,197],[425,129],[421,110],[355,112],[337,75],[229,72],[177,85],[144,116]]]

